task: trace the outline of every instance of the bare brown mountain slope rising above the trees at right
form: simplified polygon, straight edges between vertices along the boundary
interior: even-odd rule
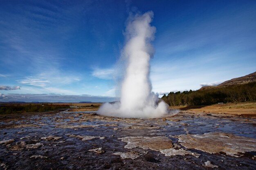
[[[256,72],[245,75],[243,77],[237,77],[234,79],[227,80],[217,86],[203,86],[199,90],[205,90],[210,88],[220,88],[220,87],[226,87],[226,86],[235,86],[235,85],[247,84],[251,82],[256,82]]]

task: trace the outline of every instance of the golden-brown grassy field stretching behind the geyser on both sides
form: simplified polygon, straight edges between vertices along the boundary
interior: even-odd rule
[[[38,113],[68,109],[69,111],[94,111],[102,103],[24,103],[0,104],[1,115]],[[43,106],[42,106],[43,105]],[[207,106],[173,106],[169,109],[179,109],[188,113],[217,113],[229,115],[256,116],[256,102],[241,102],[228,104],[213,104]]]

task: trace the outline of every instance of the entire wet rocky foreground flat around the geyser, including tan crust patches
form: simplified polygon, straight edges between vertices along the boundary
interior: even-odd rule
[[[59,112],[0,120],[0,170],[255,170],[256,119]]]

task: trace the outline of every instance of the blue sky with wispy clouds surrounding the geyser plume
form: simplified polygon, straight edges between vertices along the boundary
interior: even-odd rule
[[[154,12],[155,93],[253,73],[255,9],[255,0],[2,0],[0,101],[117,99],[114,73],[129,12]]]

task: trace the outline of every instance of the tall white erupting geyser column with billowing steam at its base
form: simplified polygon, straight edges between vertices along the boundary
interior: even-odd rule
[[[128,19],[126,26],[126,45],[123,54],[126,64],[126,73],[121,83],[120,102],[103,104],[98,113],[100,115],[117,117],[154,118],[167,113],[167,104],[160,102],[157,105],[158,95],[151,92],[149,79],[149,60],[153,56],[155,27],[150,26],[153,12],[143,15],[133,15]]]

